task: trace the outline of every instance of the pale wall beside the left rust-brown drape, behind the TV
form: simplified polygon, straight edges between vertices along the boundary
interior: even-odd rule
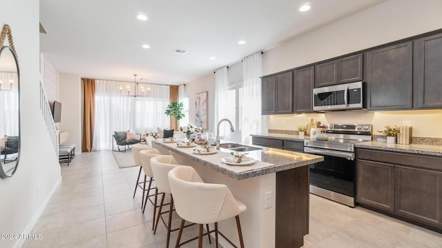
[[[68,131],[66,144],[75,144],[81,153],[81,78],[77,74],[58,74],[58,101],[61,103],[60,132]]]

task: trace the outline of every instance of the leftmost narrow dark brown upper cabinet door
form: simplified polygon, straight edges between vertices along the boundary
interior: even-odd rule
[[[261,112],[274,114],[276,110],[276,76],[261,79]]]

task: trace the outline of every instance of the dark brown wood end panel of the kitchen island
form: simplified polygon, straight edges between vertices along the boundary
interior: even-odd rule
[[[275,247],[302,247],[309,233],[309,166],[276,172]]]

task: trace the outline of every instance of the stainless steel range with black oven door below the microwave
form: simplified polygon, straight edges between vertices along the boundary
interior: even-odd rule
[[[327,141],[305,140],[304,152],[324,156],[310,165],[310,193],[355,206],[354,144],[372,140],[371,124],[329,124]]]

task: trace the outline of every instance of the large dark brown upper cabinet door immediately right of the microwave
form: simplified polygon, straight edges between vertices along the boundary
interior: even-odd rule
[[[367,110],[409,110],[413,107],[412,41],[365,54]]]

